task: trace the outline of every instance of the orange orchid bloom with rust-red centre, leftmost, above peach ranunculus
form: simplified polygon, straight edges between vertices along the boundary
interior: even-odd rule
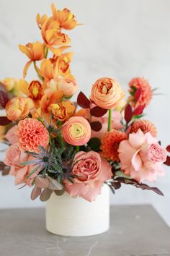
[[[37,80],[33,80],[32,82],[28,83],[24,79],[19,80],[19,88],[28,97],[32,98],[37,105],[40,102],[40,99],[43,95],[43,85],[41,82]]]

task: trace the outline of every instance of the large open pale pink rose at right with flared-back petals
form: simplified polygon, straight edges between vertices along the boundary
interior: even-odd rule
[[[161,148],[150,132],[140,129],[120,142],[118,149],[122,171],[138,182],[155,182],[156,176],[164,176],[161,164],[166,161],[166,149]]]

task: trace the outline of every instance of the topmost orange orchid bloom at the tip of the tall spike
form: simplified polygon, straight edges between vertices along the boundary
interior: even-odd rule
[[[65,8],[62,11],[56,10],[54,4],[51,5],[51,9],[53,12],[53,18],[58,21],[61,28],[65,30],[72,30],[76,27],[77,22],[75,20],[75,16],[68,9]]]

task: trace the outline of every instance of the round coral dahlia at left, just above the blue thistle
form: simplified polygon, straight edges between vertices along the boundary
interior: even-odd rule
[[[19,149],[38,153],[39,146],[46,148],[49,142],[48,130],[37,119],[27,118],[18,124]]]

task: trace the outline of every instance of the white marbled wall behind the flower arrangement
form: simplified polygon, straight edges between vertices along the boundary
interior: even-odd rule
[[[72,71],[79,89],[89,95],[91,84],[102,76],[115,77],[128,89],[135,76],[149,80],[164,95],[155,96],[147,118],[158,127],[162,145],[170,144],[170,1],[169,0],[58,0],[84,26],[71,35],[75,57]],[[22,77],[27,59],[18,43],[40,40],[35,15],[50,13],[48,0],[0,0],[0,79]],[[30,80],[34,76],[30,70]],[[170,169],[158,179],[164,197],[133,187],[122,187],[112,196],[113,204],[151,203],[170,225]],[[30,200],[30,189],[17,190],[13,177],[0,177],[0,208],[38,207]],[[155,184],[153,184],[154,186]]]

